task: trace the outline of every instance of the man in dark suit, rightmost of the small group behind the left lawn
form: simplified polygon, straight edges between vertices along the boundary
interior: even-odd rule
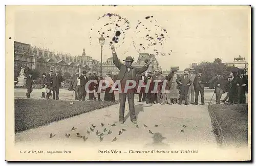
[[[56,72],[56,74],[52,76],[52,100],[59,100],[59,88],[61,87],[62,81],[64,81],[64,79],[59,75],[59,72]]]

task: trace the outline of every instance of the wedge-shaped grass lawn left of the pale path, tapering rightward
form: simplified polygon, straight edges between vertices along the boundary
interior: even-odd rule
[[[116,102],[15,99],[15,133],[108,107]]]

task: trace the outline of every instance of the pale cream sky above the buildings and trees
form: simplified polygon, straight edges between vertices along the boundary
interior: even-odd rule
[[[119,43],[114,43],[120,59],[133,56],[137,61],[139,54],[133,41],[137,46],[148,43],[145,37],[148,32],[141,25],[151,30],[150,35],[162,33],[158,26],[167,31],[163,45],[156,44],[143,51],[165,53],[165,56],[156,56],[162,69],[178,65],[182,70],[189,67],[189,63],[214,61],[214,58],[232,62],[239,55],[246,59],[250,56],[250,8],[246,6],[20,6],[15,10],[15,41],[48,48],[55,53],[77,56],[82,54],[84,48],[88,56],[100,60],[100,35],[97,31],[103,27],[106,42],[102,59],[105,61],[112,56],[109,42],[113,37],[113,27],[108,32],[110,28],[104,25],[111,23],[114,16],[97,19],[107,13],[116,13],[130,22],[129,30],[124,31],[127,25],[124,21],[119,22],[120,28],[117,29],[125,32],[119,36]],[[149,22],[146,16],[153,16],[150,19],[157,23]],[[140,32],[137,32],[139,20],[142,23]]]

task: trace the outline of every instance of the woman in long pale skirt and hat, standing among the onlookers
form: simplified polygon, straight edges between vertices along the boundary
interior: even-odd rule
[[[177,88],[178,84],[176,79],[180,76],[177,74],[178,68],[172,68],[172,73],[168,75],[168,81],[170,83],[170,103],[176,104],[177,100],[179,99],[179,89]]]

